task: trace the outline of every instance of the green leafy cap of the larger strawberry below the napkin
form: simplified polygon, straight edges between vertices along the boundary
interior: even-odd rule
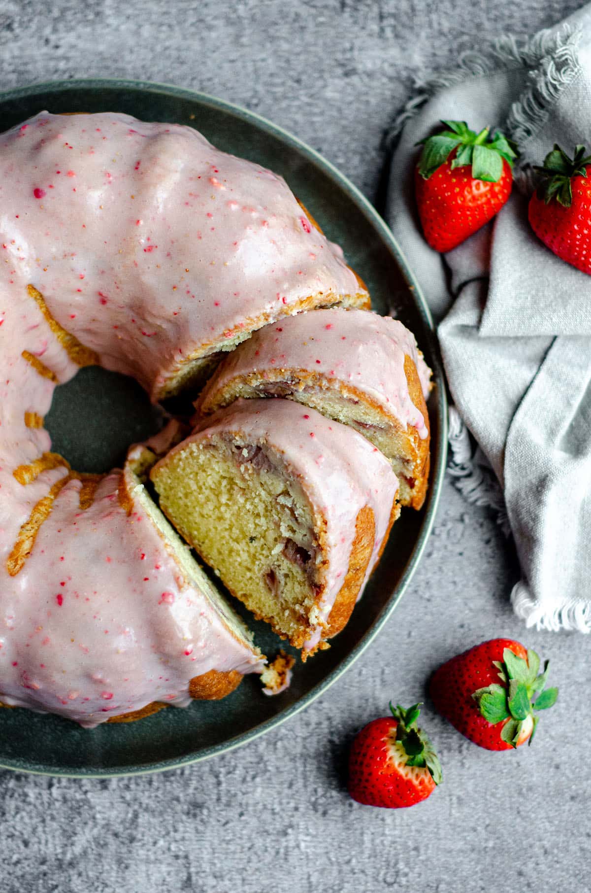
[[[501,738],[512,747],[520,743],[524,724],[531,724],[531,744],[538,720],[534,711],[551,707],[558,697],[558,689],[544,689],[550,662],[545,661],[544,672],[538,675],[540,659],[535,651],[528,651],[526,661],[515,655],[511,648],[504,648],[503,661],[493,663],[504,684],[494,682],[485,689],[473,692],[472,697],[487,722],[493,725],[504,722]],[[536,700],[532,700],[536,695]]]

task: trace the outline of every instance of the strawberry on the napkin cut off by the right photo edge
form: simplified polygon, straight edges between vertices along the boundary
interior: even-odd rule
[[[544,167],[536,167],[542,181],[529,199],[531,229],[566,263],[591,275],[591,182],[586,165],[591,155],[585,146],[574,158],[554,144]]]

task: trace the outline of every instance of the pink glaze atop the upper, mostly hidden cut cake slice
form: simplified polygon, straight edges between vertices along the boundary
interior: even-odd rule
[[[366,310],[317,310],[279,320],[254,333],[228,355],[204,388],[197,408],[211,412],[229,382],[255,374],[262,379],[297,378],[316,372],[375,400],[388,415],[429,434],[422,413],[412,403],[404,373],[410,356],[421,388],[429,394],[430,370],[412,332],[402,322]]]

